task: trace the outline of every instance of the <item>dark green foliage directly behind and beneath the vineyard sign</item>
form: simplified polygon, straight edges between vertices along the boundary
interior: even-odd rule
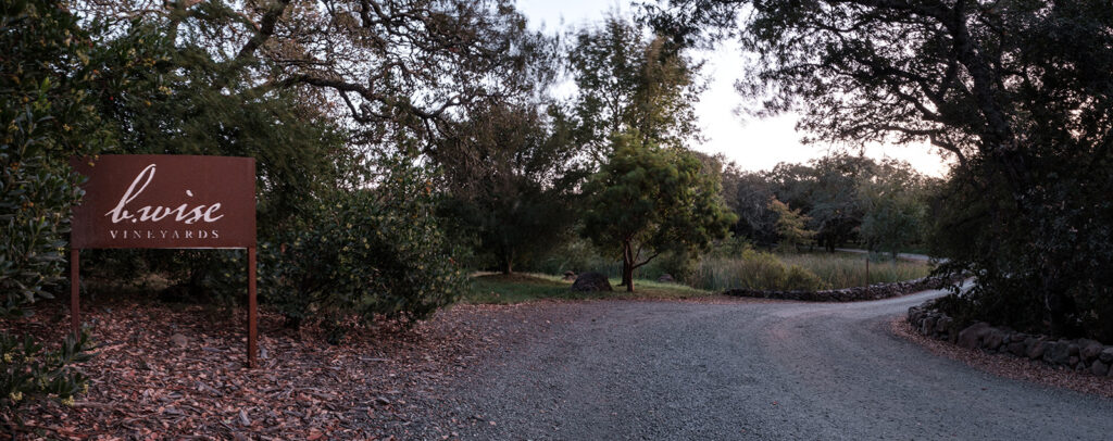
[[[180,27],[220,32],[238,20],[219,3]],[[257,225],[262,241],[295,228],[318,194],[339,185],[358,163],[346,134],[313,97],[297,88],[257,85],[266,66],[227,60],[208,40],[174,38],[156,17],[112,21],[99,36],[106,53],[95,91],[105,126],[121,140],[118,153],[246,156],[256,158]],[[106,275],[160,272],[180,298],[233,303],[246,288],[243,252],[91,251],[89,270]],[[229,271],[229,268],[236,268]]]

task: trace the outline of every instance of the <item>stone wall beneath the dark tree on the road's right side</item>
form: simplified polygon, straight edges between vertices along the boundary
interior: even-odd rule
[[[959,324],[936,311],[934,303],[933,300],[908,308],[908,323],[923,335],[946,340],[962,347],[1026,357],[1099,376],[1113,376],[1113,346],[1087,339],[1056,340],[1025,334],[1008,327],[991,326],[985,322],[959,330]]]

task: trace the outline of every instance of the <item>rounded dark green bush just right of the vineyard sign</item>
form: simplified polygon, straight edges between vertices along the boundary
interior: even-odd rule
[[[394,159],[370,188],[337,192],[262,249],[259,287],[294,324],[420,320],[452,303],[464,276],[433,215],[433,177]]]

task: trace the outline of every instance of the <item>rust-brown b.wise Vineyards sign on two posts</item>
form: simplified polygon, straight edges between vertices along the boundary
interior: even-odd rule
[[[70,327],[80,331],[81,248],[246,248],[247,364],[256,365],[255,159],[104,155],[73,158],[88,177],[70,234]]]

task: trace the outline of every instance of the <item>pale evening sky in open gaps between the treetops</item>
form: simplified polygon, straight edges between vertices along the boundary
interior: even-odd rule
[[[628,1],[614,0],[518,1],[518,8],[529,17],[530,26],[549,33],[598,22],[611,10],[630,13],[629,4]],[[735,109],[743,99],[733,88],[735,80],[742,72],[742,56],[736,43],[696,56],[706,60],[701,75],[708,88],[696,105],[696,115],[707,140],[692,146],[695,149],[721,153],[747,170],[769,169],[781,161],[802,163],[828,153],[830,147],[827,146],[800,144],[802,134],[795,129],[797,118],[794,115],[766,119],[736,115]],[[926,144],[874,145],[866,149],[866,155],[907,160],[922,173],[943,176],[949,165],[933,150]]]

